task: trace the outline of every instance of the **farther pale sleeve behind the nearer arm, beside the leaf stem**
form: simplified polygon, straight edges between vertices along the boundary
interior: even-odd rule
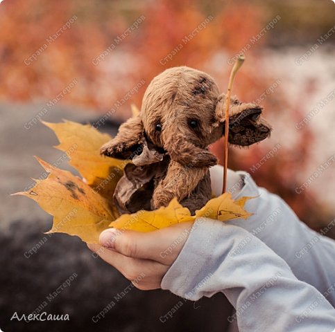
[[[289,264],[295,277],[316,287],[335,307],[335,241],[308,228],[279,196],[257,187],[250,174],[236,173],[243,187],[233,196],[256,196],[245,206],[254,214],[227,223],[248,230],[266,243]],[[334,225],[335,219],[329,221],[323,233]]]

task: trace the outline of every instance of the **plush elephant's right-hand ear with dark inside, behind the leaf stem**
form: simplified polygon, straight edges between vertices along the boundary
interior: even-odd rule
[[[271,126],[261,118],[262,107],[251,102],[244,103],[232,98],[229,109],[230,144],[246,147],[270,136]],[[218,97],[215,109],[216,125],[225,122],[225,95]],[[223,135],[225,129],[223,128]]]

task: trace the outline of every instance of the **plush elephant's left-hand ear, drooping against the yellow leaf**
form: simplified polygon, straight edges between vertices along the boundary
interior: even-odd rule
[[[117,136],[105,143],[100,154],[105,156],[126,159],[141,149],[144,142],[144,129],[141,118],[130,118],[121,124]],[[138,151],[140,153],[140,151]]]

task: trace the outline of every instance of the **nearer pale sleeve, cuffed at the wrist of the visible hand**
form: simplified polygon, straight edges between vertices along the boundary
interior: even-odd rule
[[[197,300],[222,292],[239,331],[332,332],[335,310],[316,288],[243,228],[199,218],[161,284]]]

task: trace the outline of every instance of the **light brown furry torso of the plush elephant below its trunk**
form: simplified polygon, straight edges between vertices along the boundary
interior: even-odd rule
[[[194,191],[208,172],[208,167],[187,167],[171,160],[166,176],[158,183],[153,192],[151,208],[155,210],[161,206],[167,206],[174,197],[178,201],[182,201]],[[203,192],[210,193],[210,181],[207,181],[205,185],[209,189],[203,188]]]

